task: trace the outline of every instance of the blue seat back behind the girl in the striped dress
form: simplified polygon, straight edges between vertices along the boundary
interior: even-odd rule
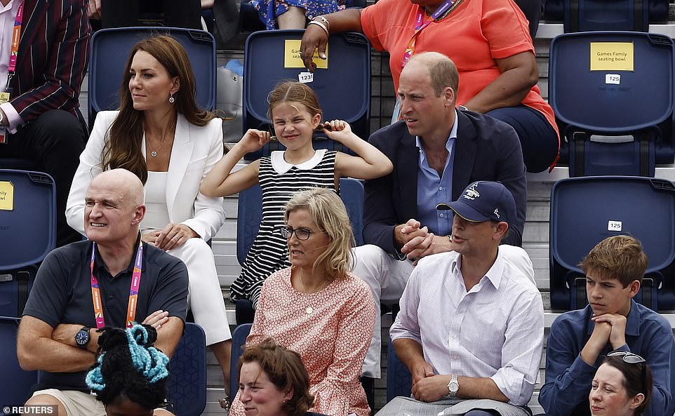
[[[351,177],[340,178],[340,198],[345,203],[356,246],[363,246],[363,184]],[[243,264],[253,246],[262,219],[262,189],[255,184],[239,192],[236,221],[236,260]]]

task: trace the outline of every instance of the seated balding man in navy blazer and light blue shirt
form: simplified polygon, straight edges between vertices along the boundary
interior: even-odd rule
[[[456,201],[468,184],[498,181],[512,193],[516,217],[500,253],[534,282],[532,263],[519,247],[527,196],[518,136],[507,123],[455,109],[458,83],[457,68],[445,55],[413,55],[399,81],[403,120],[368,140],[394,170],[366,181],[366,245],[355,249],[354,274],[368,283],[377,308],[366,377],[380,377],[380,300],[398,302],[416,260],[453,250],[453,217],[436,205]]]

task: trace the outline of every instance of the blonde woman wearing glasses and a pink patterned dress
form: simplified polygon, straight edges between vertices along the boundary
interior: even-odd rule
[[[298,351],[309,373],[313,412],[369,416],[359,376],[375,305],[370,288],[350,271],[354,235],[347,210],[333,190],[312,188],[290,199],[284,220],[279,232],[288,240],[291,267],[263,284],[246,343],[272,337]],[[245,414],[239,396],[241,391],[230,415]]]

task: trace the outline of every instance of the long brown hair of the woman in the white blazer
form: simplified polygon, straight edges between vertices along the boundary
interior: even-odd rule
[[[178,41],[168,35],[157,35],[136,43],[126,62],[122,84],[119,88],[119,114],[107,131],[107,140],[101,155],[101,169],[123,168],[137,175],[145,184],[147,166],[143,157],[141,142],[143,138],[143,112],[133,108],[129,81],[131,80],[131,62],[138,51],[152,55],[166,68],[172,78],[178,76],[180,88],[173,95],[174,108],[178,114],[194,126],[206,126],[215,114],[200,109],[194,100],[195,80],[192,65]]]

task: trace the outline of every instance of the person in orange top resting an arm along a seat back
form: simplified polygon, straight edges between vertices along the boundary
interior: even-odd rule
[[[319,16],[302,36],[305,65],[314,69],[317,48],[325,58],[328,33],[347,31],[363,32],[377,50],[389,53],[395,90],[410,55],[448,56],[460,73],[457,105],[509,123],[529,172],[554,166],[560,147],[555,116],[537,87],[528,22],[512,0],[380,0]]]

